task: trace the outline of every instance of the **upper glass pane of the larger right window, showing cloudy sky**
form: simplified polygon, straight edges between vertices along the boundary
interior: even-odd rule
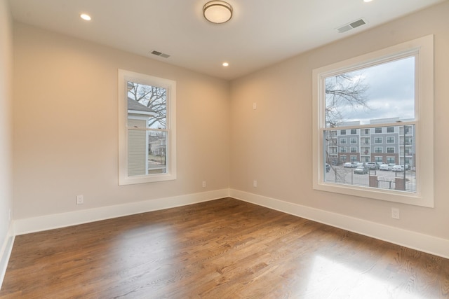
[[[330,76],[325,84],[326,127],[415,119],[414,56]]]

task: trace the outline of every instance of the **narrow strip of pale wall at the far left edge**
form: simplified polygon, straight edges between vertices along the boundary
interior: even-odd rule
[[[8,1],[0,0],[0,284],[11,250],[10,210],[13,209],[11,84],[13,36]]]

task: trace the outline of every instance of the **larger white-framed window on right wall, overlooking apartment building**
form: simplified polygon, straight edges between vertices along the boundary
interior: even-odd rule
[[[315,189],[433,207],[433,63],[433,36],[425,36],[314,69]],[[389,155],[375,159],[410,167],[379,178],[351,176],[341,165],[326,173],[333,130],[364,131],[373,153],[387,141]]]

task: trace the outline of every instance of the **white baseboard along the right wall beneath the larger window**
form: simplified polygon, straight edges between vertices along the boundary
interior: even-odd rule
[[[381,239],[386,242],[431,253],[443,258],[449,258],[448,239],[424,235],[419,232],[403,230],[402,228],[395,228],[389,225],[305,207],[300,204],[284,202],[282,200],[276,200],[274,198],[246,193],[239,190],[229,190],[229,196],[237,200],[243,200],[269,209],[275,209],[277,211],[356,232],[375,239]]]

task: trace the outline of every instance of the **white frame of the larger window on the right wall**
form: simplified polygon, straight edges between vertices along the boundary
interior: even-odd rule
[[[371,67],[381,62],[393,61],[410,55],[415,55],[415,120],[396,124],[386,123],[384,126],[415,125],[416,193],[325,182],[323,179],[323,163],[325,163],[323,154],[325,79],[336,74]],[[434,146],[432,146],[434,144],[434,36],[424,36],[413,41],[407,41],[396,46],[314,69],[312,71],[312,81],[312,96],[314,100],[314,111],[312,114],[314,167],[312,172],[314,190],[413,204],[422,207],[434,207]],[[358,128],[374,128],[376,126],[378,127],[378,125],[366,125]],[[351,129],[351,127],[342,127],[337,130],[344,129]]]

